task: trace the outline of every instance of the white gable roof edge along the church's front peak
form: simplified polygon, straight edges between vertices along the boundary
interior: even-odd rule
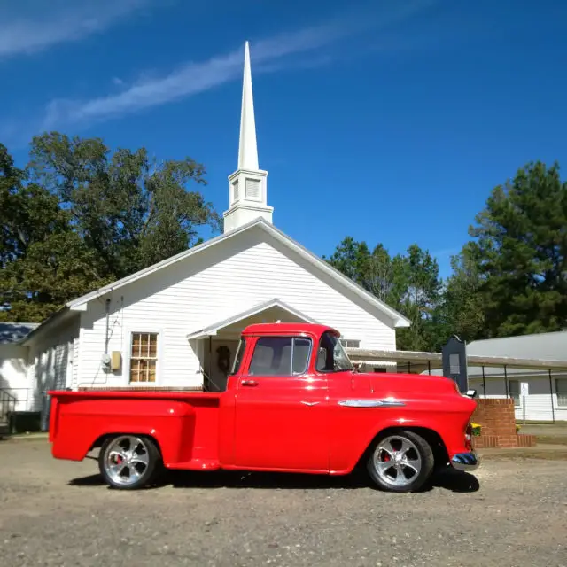
[[[353,280],[351,280],[349,277],[339,272],[338,269],[330,266],[329,262],[322,260],[321,258],[319,258],[319,256],[315,255],[313,252],[309,252],[307,248],[300,245],[291,237],[288,237],[280,229],[276,229],[276,227],[273,224],[269,223],[268,221],[265,221],[262,218],[258,218],[253,221],[250,221],[238,227],[237,229],[230,230],[229,232],[221,234],[218,237],[211,238],[210,240],[207,240],[206,242],[200,245],[193,246],[192,248],[189,248],[188,250],[184,250],[183,252],[175,254],[175,256],[171,256],[166,260],[161,260],[160,262],[153,264],[148,268],[141,269],[135,274],[131,274],[130,276],[123,277],[117,282],[109,283],[104,287],[101,287],[95,291],[91,291],[90,293],[87,293],[86,295],[83,295],[78,299],[69,301],[66,304],[66,307],[73,310],[81,309],[91,299],[96,299],[97,297],[105,295],[105,293],[108,293],[109,291],[118,290],[124,285],[127,285],[128,283],[136,282],[136,280],[144,276],[150,276],[151,274],[157,272],[162,268],[167,268],[167,266],[171,266],[176,262],[185,260],[186,258],[189,258],[194,254],[198,254],[199,252],[204,252],[211,246],[217,245],[225,240],[229,240],[229,238],[237,237],[237,235],[242,234],[243,232],[245,232],[245,230],[252,229],[253,227],[257,227],[259,229],[264,230],[268,235],[276,238],[276,240],[278,240],[282,245],[286,246],[291,251],[298,253],[299,256],[307,260],[310,264],[315,266],[315,268],[319,268],[324,273],[331,276],[339,285],[342,285],[347,289],[353,291],[361,299],[366,301],[370,306],[377,307],[377,309],[379,309],[385,315],[387,315],[392,319],[394,323],[393,325],[394,327],[409,327],[410,322],[406,317],[404,317],[404,315],[401,315],[398,311],[386,305],[384,301],[377,299],[377,297],[369,293],[369,291],[366,291],[358,283],[354,283]]]

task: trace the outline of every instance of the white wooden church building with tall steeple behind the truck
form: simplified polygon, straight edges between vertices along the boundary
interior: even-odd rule
[[[277,229],[267,181],[246,43],[223,234],[69,301],[24,338],[0,344],[0,389],[19,392],[20,411],[43,414],[52,388],[222,389],[252,322],[321,322],[347,346],[394,350],[408,319]]]

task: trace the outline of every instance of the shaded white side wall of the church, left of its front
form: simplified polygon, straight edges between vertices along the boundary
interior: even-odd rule
[[[28,353],[28,411],[44,410],[44,392],[71,385],[78,355],[79,316],[58,326],[46,327],[32,338]],[[77,343],[78,345],[78,343]]]

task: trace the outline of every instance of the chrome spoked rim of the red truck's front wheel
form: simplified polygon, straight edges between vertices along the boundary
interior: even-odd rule
[[[411,485],[419,477],[422,457],[412,440],[391,435],[378,443],[372,464],[384,485],[401,488]]]

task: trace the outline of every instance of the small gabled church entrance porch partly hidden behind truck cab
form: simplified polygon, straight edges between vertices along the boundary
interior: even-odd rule
[[[205,392],[223,392],[241,332],[261,322],[316,322],[280,299],[271,299],[188,335],[197,353]]]

